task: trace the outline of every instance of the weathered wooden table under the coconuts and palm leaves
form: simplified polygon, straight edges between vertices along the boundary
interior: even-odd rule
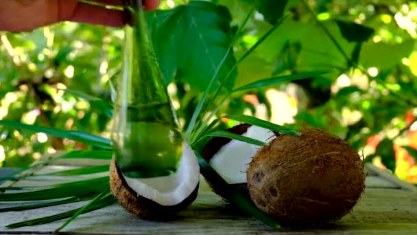
[[[102,164],[86,160],[56,161],[53,165],[36,169],[37,173],[70,169],[76,166]],[[64,228],[64,234],[417,234],[417,189],[388,172],[367,165],[366,190],[353,212],[336,223],[308,230],[277,232],[263,223],[230,208],[209,190],[202,180],[198,199],[171,222],[143,221],[125,212],[119,205],[111,205],[84,214]],[[97,176],[90,175],[89,177]],[[82,179],[80,177],[36,177],[3,186],[42,186]],[[71,179],[69,179],[71,178]],[[47,216],[78,208],[85,202],[58,205],[23,212],[0,213],[0,234],[54,234],[63,221],[9,230],[4,226],[39,216]],[[0,207],[10,203],[0,203]]]

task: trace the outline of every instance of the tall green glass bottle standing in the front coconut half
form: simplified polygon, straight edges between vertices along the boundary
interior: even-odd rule
[[[110,139],[126,177],[149,178],[176,172],[183,138],[178,128],[140,0],[124,0],[122,72]]]

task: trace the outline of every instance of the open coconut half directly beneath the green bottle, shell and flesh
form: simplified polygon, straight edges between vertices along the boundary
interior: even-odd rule
[[[187,208],[198,193],[200,166],[193,150],[184,144],[180,166],[174,175],[147,179],[123,175],[113,157],[110,190],[120,205],[143,219],[171,219]]]

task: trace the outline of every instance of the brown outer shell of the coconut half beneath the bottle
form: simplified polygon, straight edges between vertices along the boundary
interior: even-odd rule
[[[120,177],[121,171],[115,164],[115,157],[110,162],[110,192],[116,201],[128,212],[141,217],[156,221],[171,220],[178,212],[186,209],[197,197],[198,185],[195,190],[178,205],[160,205],[145,197],[137,196],[136,192],[128,186],[126,180]]]

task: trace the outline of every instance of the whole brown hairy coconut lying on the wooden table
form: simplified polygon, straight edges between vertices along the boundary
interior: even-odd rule
[[[250,197],[278,221],[327,223],[353,208],[364,190],[364,164],[348,143],[320,130],[280,135],[248,168]]]

